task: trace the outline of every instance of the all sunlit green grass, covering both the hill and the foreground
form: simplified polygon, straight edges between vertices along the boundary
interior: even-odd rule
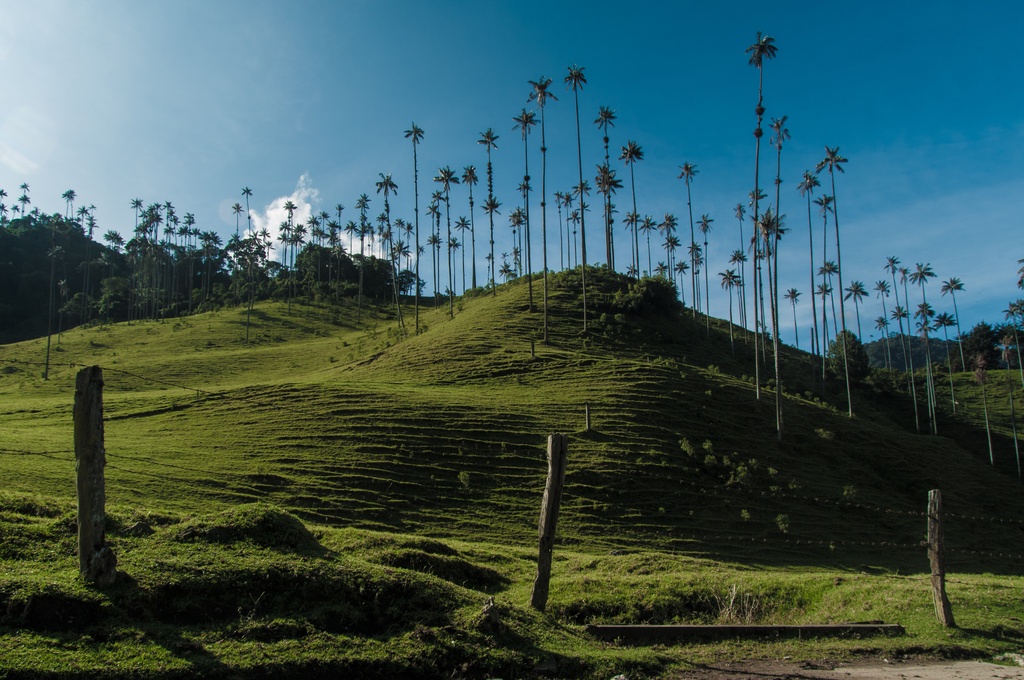
[[[121,625],[159,642],[159,649],[139,652],[146,672],[172,675],[247,672],[250,662],[238,658],[260,636],[276,649],[267,667],[282,673],[286,666],[307,673],[325,658],[334,660],[323,662],[332,672],[365,665],[368,674],[423,664],[425,677],[459,664],[470,676],[528,674],[551,657],[562,675],[622,668],[657,674],[681,663],[671,651],[606,649],[572,628],[592,622],[900,619],[915,622],[924,639],[880,643],[894,645],[886,648],[970,654],[1024,640],[1019,623],[1005,624],[1024,611],[1014,611],[1008,593],[991,594],[993,583],[1017,581],[1024,499],[1004,412],[993,413],[1000,452],[993,468],[968,376],[956,376],[964,405],[957,418],[940,414],[940,436],[927,436],[914,433],[908,400],[867,385],[854,394],[856,417],[847,418],[840,387],[829,386],[823,397],[814,392],[808,357],[787,350],[785,434],[778,441],[773,393],[763,389],[756,398],[748,336],[737,335],[733,353],[727,322],[712,320],[709,332],[702,316],[660,308],[656,287],[630,290],[618,277],[595,278],[586,334],[579,281],[571,273],[552,278],[550,344],[540,341],[540,282],[530,311],[520,281],[496,297],[458,301],[452,320],[446,306],[421,311],[419,336],[399,333],[387,310],[364,310],[356,322],[353,307],[294,304],[289,314],[285,305],[265,304],[257,307],[248,345],[241,309],[76,329],[63,334],[47,381],[39,366],[45,339],[0,347],[0,525],[25,537],[0,552],[0,600],[8,611],[0,626],[29,650],[18,656],[22,666],[9,668],[38,668],[43,656],[31,654],[42,654],[40,639],[52,634],[31,615],[15,615],[13,603],[32,601],[40,572],[60,598],[91,601],[96,611],[109,607],[134,622]],[[74,378],[93,364],[104,369],[112,542],[138,584],[113,596],[74,585],[68,533]],[[997,382],[988,391],[993,405],[1007,396]],[[549,617],[541,618],[525,604],[545,440],[553,432],[569,434],[569,463]],[[948,562],[968,580],[962,602],[984,601],[964,611],[969,622],[976,617],[972,625],[981,633],[951,643],[930,622],[920,547],[930,488],[943,491],[952,515]],[[251,503],[272,504],[254,511],[256,528],[245,519]],[[139,521],[155,534],[133,535]],[[246,533],[267,522],[295,522],[294,532],[311,530],[311,538],[300,549],[282,548],[280,534],[261,544]],[[241,533],[229,541],[203,539],[219,525]],[[282,550],[301,553],[301,566],[289,566]],[[183,578],[178,560],[189,563],[189,596],[223,600],[221,614],[207,621],[197,612],[153,613],[173,609],[167,601],[184,588],[174,590]],[[207,563],[213,583],[193,560]],[[414,602],[445,604],[433,614],[430,606],[410,605],[415,624],[400,611],[374,609],[378,623],[334,631],[325,623],[332,617],[371,615],[360,608],[366,598],[344,595],[353,592],[348,578],[387,597],[404,592]],[[241,592],[223,592],[253,580],[292,597],[249,607],[238,601]],[[302,591],[300,582],[340,589],[344,615],[298,606],[316,590]],[[739,613],[737,586],[749,596]],[[143,604],[135,602],[139,592]],[[484,596],[497,597],[514,622],[501,634],[478,626]],[[136,615],[139,608],[152,615]],[[71,651],[48,650],[53,664],[89,654],[110,661],[67,627],[55,629],[71,636]],[[465,639],[438,642],[447,635],[438,631],[449,629]],[[395,631],[404,642],[389,655],[381,640]],[[162,666],[160,650],[174,649],[169,635],[193,639]],[[327,637],[285,651],[311,635]],[[328,653],[331,636],[356,636],[361,651]],[[124,651],[122,642],[111,644],[111,654]],[[827,648],[837,653],[856,647],[833,644]],[[432,662],[420,658],[430,653]],[[125,668],[115,664],[117,672]]]

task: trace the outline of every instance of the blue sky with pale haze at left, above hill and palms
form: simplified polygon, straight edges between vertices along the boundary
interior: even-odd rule
[[[542,3],[394,0],[0,0],[0,188],[8,207],[22,183],[31,206],[63,212],[96,207],[99,233],[131,237],[133,199],[174,204],[197,226],[226,241],[236,229],[231,205],[252,189],[257,225],[275,230],[281,206],[299,205],[356,216],[360,194],[371,215],[383,207],[375,182],[398,185],[393,217],[414,221],[413,147],[403,132],[415,123],[419,145],[421,231],[431,179],[451,166],[474,165],[478,270],[485,271],[486,196],[480,132],[499,135],[494,152],[496,251],[511,251],[508,215],[520,202],[523,142],[513,116],[527,102],[528,81],[553,79],[557,100],[545,110],[548,146],[549,260],[558,268],[558,213],[550,195],[578,183],[575,111],[563,80],[585,68],[580,94],[585,176],[594,184],[603,161],[599,107],[614,110],[612,166],[616,195],[616,262],[630,258],[622,217],[631,209],[628,168],[620,148],[635,140],[641,216],[679,218],[689,243],[686,186],[679,166],[696,164],[695,219],[714,219],[709,236],[712,312],[728,315],[718,272],[740,246],[737,203],[754,186],[758,71],[745,48],[759,31],[778,48],[765,62],[766,134],[786,116],[792,138],[781,155],[780,208],[788,232],[779,250],[780,287],[801,293],[797,323],[807,348],[811,325],[805,170],[839,146],[849,162],[837,175],[844,284],[859,280],[869,297],[861,313],[865,339],[879,337],[874,282],[888,278],[888,256],[911,269],[930,263],[928,287],[938,311],[952,311],[939,293],[959,278],[962,324],[1002,321],[1024,257],[1024,87],[1017,62],[1024,6],[940,0],[919,3],[755,3],[652,1],[625,6],[605,0]],[[535,270],[540,269],[540,129],[529,137],[534,184]],[[762,144],[760,185],[774,204],[775,151]],[[827,174],[815,196],[830,194]],[[587,216],[588,257],[603,261],[600,200]],[[453,219],[467,215],[468,193],[452,192]],[[762,209],[765,205],[762,205]],[[815,262],[821,262],[821,218],[815,206]],[[245,219],[243,216],[243,226]],[[443,226],[442,226],[443,228]],[[743,225],[749,233],[750,222]],[[829,223],[828,247],[835,247]],[[96,235],[98,238],[98,233]],[[655,233],[656,237],[656,233]],[[697,240],[702,241],[699,232]],[[652,242],[652,261],[665,252]],[[345,245],[348,245],[346,240]],[[356,244],[356,249],[358,245]],[[678,257],[685,258],[685,251]],[[834,251],[831,253],[834,255]],[[833,257],[829,259],[833,259]],[[461,254],[459,255],[461,257]],[[429,260],[429,254],[426,256]],[[642,268],[647,250],[641,239]],[[429,279],[429,265],[425,278]],[[622,267],[620,267],[622,268]],[[479,274],[480,279],[483,274]],[[459,286],[461,290],[461,285]],[[428,290],[432,284],[428,281]],[[687,285],[687,301],[691,291]],[[912,302],[920,291],[911,290]],[[891,309],[894,300],[887,301]],[[852,305],[848,325],[856,332]],[[819,312],[820,313],[820,312]],[[782,337],[795,340],[783,301]]]

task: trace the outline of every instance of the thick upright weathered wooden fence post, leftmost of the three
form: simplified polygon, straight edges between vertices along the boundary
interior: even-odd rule
[[[103,372],[90,366],[75,379],[75,468],[78,472],[78,563],[82,578],[110,586],[118,558],[106,546],[103,482]]]

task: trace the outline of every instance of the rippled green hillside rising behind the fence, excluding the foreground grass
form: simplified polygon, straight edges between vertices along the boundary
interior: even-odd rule
[[[352,308],[273,304],[250,345],[243,310],[78,329],[45,382],[41,341],[5,346],[0,475],[12,491],[74,495],[73,381],[99,364],[111,503],[269,501],[325,524],[529,546],[546,435],[567,432],[563,545],[923,569],[922,514],[939,487],[964,517],[947,529],[951,568],[1016,570],[999,553],[1024,546],[992,521],[1024,517],[1015,476],[985,451],[912,433],[906,403],[862,387],[850,420],[790,351],[778,441],[750,338],[733,355],[727,324],[709,334],[656,287],[599,275],[584,334],[564,274],[545,345],[539,291],[532,311],[524,282],[461,300],[452,320],[428,311],[415,337],[384,310],[357,324]]]

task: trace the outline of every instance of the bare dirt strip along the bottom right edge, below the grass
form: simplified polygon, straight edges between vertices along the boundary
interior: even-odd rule
[[[708,664],[674,680],[1024,680],[1024,668],[986,662],[864,660]]]

